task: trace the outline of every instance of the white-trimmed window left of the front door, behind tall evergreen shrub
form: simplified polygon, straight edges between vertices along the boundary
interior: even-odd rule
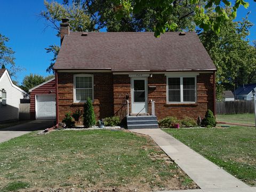
[[[85,102],[87,98],[93,100],[93,75],[74,75],[74,102]]]

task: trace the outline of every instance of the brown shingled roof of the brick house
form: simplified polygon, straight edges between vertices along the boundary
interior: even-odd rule
[[[111,69],[111,71],[215,70],[195,32],[82,33],[63,39],[54,69]]]

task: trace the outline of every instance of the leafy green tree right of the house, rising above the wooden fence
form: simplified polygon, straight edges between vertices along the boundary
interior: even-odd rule
[[[231,14],[231,12],[229,12]],[[214,13],[209,12],[209,17]],[[243,83],[255,82],[256,49],[246,39],[252,23],[247,17],[242,21],[227,20],[221,23],[221,31],[198,31],[199,38],[217,67],[217,99],[223,90],[234,90]]]

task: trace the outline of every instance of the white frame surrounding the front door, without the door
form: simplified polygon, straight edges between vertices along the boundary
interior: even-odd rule
[[[145,81],[145,113],[133,113],[133,89],[134,80],[144,80]],[[148,77],[131,77],[131,114],[147,114],[148,113]]]

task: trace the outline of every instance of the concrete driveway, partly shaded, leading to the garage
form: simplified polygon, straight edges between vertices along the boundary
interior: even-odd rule
[[[31,131],[44,130],[52,126],[54,126],[54,120],[38,119],[28,123],[6,127],[4,129],[0,129],[0,143],[19,137]]]

